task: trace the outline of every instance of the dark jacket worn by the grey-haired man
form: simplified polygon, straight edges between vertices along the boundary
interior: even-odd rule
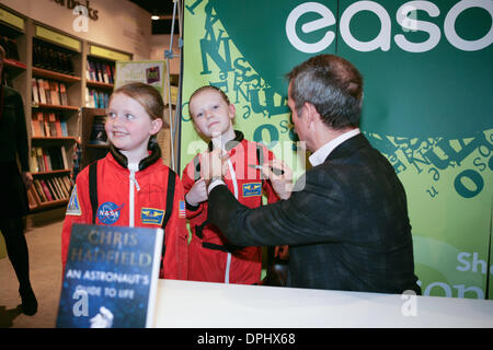
[[[421,294],[404,188],[363,135],[295,187],[303,182],[288,200],[256,209],[217,186],[208,218],[232,244],[289,245],[289,287]]]

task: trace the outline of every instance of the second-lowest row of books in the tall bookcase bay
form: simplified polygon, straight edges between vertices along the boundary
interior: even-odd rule
[[[61,147],[32,147],[31,172],[45,173],[68,170],[67,151]]]

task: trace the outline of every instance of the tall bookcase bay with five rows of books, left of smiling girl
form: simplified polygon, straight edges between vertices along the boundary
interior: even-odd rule
[[[38,23],[31,39],[32,212],[66,206],[79,137],[82,43]]]

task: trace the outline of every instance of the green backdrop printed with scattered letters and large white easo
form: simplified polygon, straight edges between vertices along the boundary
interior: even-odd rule
[[[424,294],[492,299],[492,0],[186,0],[181,171],[205,149],[188,97],[214,84],[236,127],[301,174],[284,75],[340,55],[365,78],[362,130],[406,189]]]

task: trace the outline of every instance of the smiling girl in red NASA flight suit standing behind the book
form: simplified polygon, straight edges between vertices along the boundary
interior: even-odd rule
[[[61,235],[64,271],[73,223],[161,228],[168,220],[160,278],[186,280],[188,231],[183,185],[164,165],[156,141],[163,126],[163,109],[161,95],[147,84],[130,83],[112,94],[105,124],[110,152],[96,163],[96,189],[90,185],[89,165],[77,176],[67,207]],[[174,185],[174,194],[171,215],[167,218],[169,185]],[[96,191],[95,212],[91,190]]]

